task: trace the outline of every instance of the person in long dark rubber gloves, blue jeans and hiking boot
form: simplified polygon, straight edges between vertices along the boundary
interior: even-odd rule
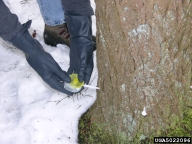
[[[64,89],[63,82],[69,83],[71,81],[69,75],[77,73],[79,81],[88,84],[94,65],[91,28],[93,9],[90,1],[62,0],[59,3],[53,0],[38,0],[37,2],[45,21],[45,43],[54,46],[63,43],[70,46],[70,66],[67,73],[29,34],[31,21],[21,25],[18,17],[9,11],[2,0],[0,0],[0,37],[22,50],[29,65],[50,87],[67,95],[73,95],[74,93]],[[47,17],[48,11],[52,12],[49,17]],[[59,28],[63,28],[62,32],[59,32]]]

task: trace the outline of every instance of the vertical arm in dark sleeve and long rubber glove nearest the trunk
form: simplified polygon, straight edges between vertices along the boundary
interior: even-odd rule
[[[93,71],[92,20],[89,0],[62,0],[65,21],[70,33],[70,67],[68,74],[77,73],[80,82],[89,83]]]

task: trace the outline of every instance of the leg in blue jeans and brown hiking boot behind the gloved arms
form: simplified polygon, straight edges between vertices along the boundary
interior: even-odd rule
[[[45,22],[44,42],[47,45],[56,46],[65,44],[70,47],[70,34],[65,22],[64,9],[61,0],[37,0],[41,15]],[[85,8],[85,5],[82,5]],[[76,6],[80,7],[80,6]],[[84,15],[93,15],[90,3],[87,3],[85,12],[76,12]],[[92,36],[93,49],[96,50],[96,37]]]

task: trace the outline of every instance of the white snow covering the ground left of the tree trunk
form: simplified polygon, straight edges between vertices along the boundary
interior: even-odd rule
[[[47,46],[43,41],[44,22],[36,0],[4,0],[21,23],[32,19],[34,30],[44,49],[63,70],[69,67],[66,45]],[[95,8],[94,1],[91,1]],[[96,33],[93,17],[93,34]],[[95,67],[91,85],[97,85]],[[28,65],[24,54],[0,41],[0,144],[76,144],[78,120],[96,100],[96,91],[85,89],[67,97],[51,89]]]

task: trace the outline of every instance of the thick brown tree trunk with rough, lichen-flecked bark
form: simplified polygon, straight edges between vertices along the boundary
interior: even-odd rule
[[[95,2],[100,90],[92,121],[130,139],[174,127],[192,101],[192,1]]]

